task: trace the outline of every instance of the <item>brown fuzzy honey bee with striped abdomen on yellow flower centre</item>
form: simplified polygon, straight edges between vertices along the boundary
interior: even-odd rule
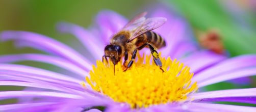
[[[167,19],[163,17],[145,18],[145,15],[146,12],[137,15],[112,37],[110,44],[105,47],[103,61],[108,57],[115,66],[124,57],[123,66],[126,67],[124,70],[126,71],[133,65],[137,50],[148,47],[155,64],[164,72],[156,48],[164,47],[166,43],[160,35],[152,30],[163,25]],[[126,66],[128,54],[132,54],[132,58]]]

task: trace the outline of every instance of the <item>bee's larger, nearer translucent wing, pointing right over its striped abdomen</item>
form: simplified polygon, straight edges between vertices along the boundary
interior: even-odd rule
[[[166,18],[164,17],[154,17],[154,18],[147,18],[145,21],[140,23],[139,26],[133,30],[133,34],[130,37],[130,41],[137,38],[138,36],[148,32],[152,31],[154,29],[157,29],[161,25],[163,25],[166,22]]]

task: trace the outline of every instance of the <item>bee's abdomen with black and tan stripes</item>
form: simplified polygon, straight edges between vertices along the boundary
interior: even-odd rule
[[[158,49],[166,45],[165,40],[155,32],[149,31],[146,32],[145,35],[147,37],[147,42]]]

